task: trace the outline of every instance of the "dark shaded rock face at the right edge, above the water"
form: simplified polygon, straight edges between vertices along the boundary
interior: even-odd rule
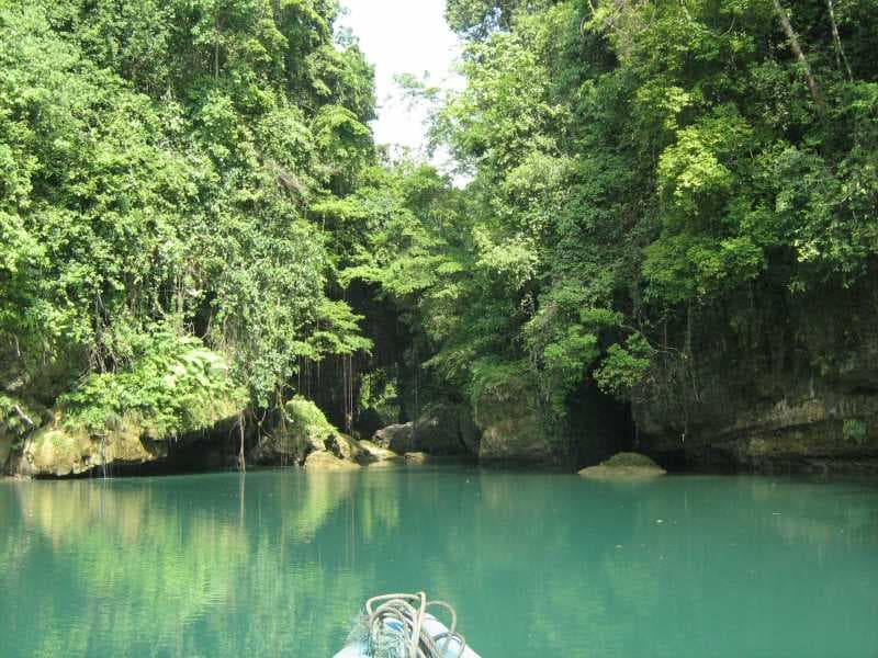
[[[640,450],[697,468],[878,470],[878,279],[763,284],[693,314],[633,406]]]

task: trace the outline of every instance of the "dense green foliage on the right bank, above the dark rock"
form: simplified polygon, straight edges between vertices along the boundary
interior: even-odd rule
[[[637,396],[656,358],[687,358],[698,309],[757,281],[832,294],[869,268],[877,9],[449,0],[468,86],[432,136],[472,182],[399,172],[410,215],[358,272],[473,397],[527,379],[552,427],[576,390]]]

